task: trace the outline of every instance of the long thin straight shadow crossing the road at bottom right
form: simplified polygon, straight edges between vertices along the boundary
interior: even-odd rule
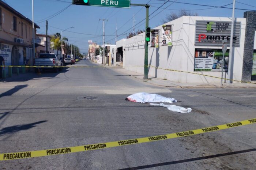
[[[152,167],[158,167],[158,166],[173,165],[173,164],[177,164],[177,163],[191,162],[191,161],[195,161],[195,160],[217,158],[217,157],[220,157],[220,156],[242,154],[242,153],[245,153],[245,152],[252,152],[252,151],[256,151],[256,148],[248,149],[248,150],[242,150],[242,151],[235,151],[235,152],[227,152],[227,153],[224,153],[224,154],[202,156],[202,157],[198,157],[198,158],[190,158],[190,159],[176,160],[176,161],[171,161],[171,162],[155,163],[155,164],[151,164],[151,165],[143,165],[143,166],[137,166],[137,167],[129,167],[129,168],[124,168],[124,169],[119,169],[119,170],[145,169],[145,168],[152,168]]]

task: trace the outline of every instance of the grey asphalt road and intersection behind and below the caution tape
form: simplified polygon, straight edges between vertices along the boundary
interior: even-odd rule
[[[76,65],[95,66],[88,60]],[[0,153],[163,135],[256,117],[255,88],[164,88],[118,69],[67,68],[0,83]],[[192,112],[125,101],[135,92],[175,98],[176,105]],[[0,162],[0,169],[250,170],[255,168],[255,132],[253,124],[132,146],[7,160]]]

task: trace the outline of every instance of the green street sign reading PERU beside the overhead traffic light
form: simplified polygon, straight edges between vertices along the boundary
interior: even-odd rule
[[[89,0],[91,6],[130,8],[131,0]]]

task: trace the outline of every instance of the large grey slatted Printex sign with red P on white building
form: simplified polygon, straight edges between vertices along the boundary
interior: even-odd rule
[[[233,46],[240,46],[241,22],[234,23]],[[230,44],[231,22],[225,21],[196,21],[196,46],[222,46],[227,39]]]

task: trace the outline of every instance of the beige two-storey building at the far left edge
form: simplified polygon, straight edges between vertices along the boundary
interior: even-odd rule
[[[36,33],[40,27],[34,26]],[[0,55],[4,57],[5,64],[32,65],[32,39],[32,21],[0,1]]]

